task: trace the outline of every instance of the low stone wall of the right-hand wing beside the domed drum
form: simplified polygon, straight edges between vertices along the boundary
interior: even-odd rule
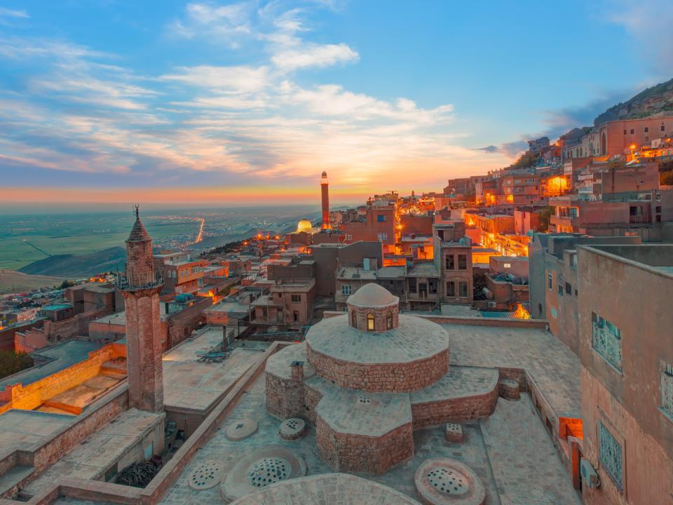
[[[447,422],[465,422],[489,417],[498,403],[498,384],[493,391],[468,398],[412,403],[414,429],[439,426]]]

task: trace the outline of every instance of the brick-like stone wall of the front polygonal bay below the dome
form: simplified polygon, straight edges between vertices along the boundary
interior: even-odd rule
[[[318,416],[315,425],[318,456],[334,471],[381,475],[414,456],[412,423],[381,437],[338,433]]]

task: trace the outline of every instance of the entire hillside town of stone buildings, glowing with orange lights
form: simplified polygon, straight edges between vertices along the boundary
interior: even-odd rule
[[[464,503],[671,503],[672,136],[573,128],[344,210],[322,173],[320,221],[210,250],[153,248],[136,210],[123,273],[0,298],[0,349],[33,360],[0,378],[3,503],[271,503],[248,455],[278,492],[345,472],[416,503],[461,447],[428,476]]]

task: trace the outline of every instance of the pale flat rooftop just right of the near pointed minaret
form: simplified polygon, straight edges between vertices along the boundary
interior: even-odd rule
[[[167,408],[208,410],[259,358],[259,350],[237,347],[221,363],[199,363],[198,355],[222,344],[222,328],[205,328],[163,355],[163,403]]]

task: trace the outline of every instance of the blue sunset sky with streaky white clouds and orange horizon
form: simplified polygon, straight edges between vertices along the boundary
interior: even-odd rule
[[[673,77],[644,0],[0,0],[5,203],[334,203],[510,164]]]

